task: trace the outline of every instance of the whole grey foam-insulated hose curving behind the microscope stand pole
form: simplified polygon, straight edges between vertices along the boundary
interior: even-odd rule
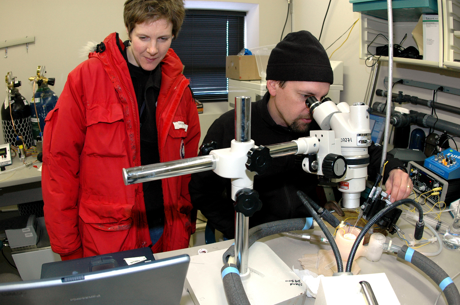
[[[249,229],[249,247],[260,238],[287,231],[308,230],[312,228],[312,224],[313,218],[311,217],[285,219],[261,224]],[[235,256],[235,244],[232,244],[222,257],[224,266],[221,269],[221,274],[227,302],[229,305],[250,305],[241,282],[240,272],[235,264],[228,263],[230,256]]]

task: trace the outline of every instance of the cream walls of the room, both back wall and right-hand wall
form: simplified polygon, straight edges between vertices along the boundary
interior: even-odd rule
[[[215,2],[223,1],[190,1]],[[288,11],[287,0],[233,0],[239,6],[247,6],[252,14],[259,11],[259,37],[247,38],[247,46],[276,44],[281,36],[282,28]],[[35,36],[35,44],[29,45],[29,53],[25,46],[10,48],[8,58],[0,56],[0,77],[12,71],[18,80],[23,82],[20,92],[30,100],[32,86],[27,78],[34,76],[38,65],[45,65],[48,77],[56,78],[56,85],[52,89],[59,95],[67,79],[67,74],[85,58],[79,57],[81,47],[87,41],[102,41],[109,33],[117,31],[122,39],[127,39],[123,25],[124,0],[79,0],[62,1],[49,0],[37,4],[32,0],[0,1],[0,39],[17,39],[26,35]],[[256,7],[254,8],[254,5]],[[232,2],[225,6],[232,6]],[[327,0],[294,0],[293,2],[293,30],[308,30],[316,37],[319,36]],[[20,11],[18,11],[20,8]],[[248,13],[248,15],[250,15]],[[347,0],[332,0],[328,17],[324,24],[321,43],[328,46],[337,39],[351,24],[357,20],[358,13],[352,11],[352,5]],[[255,20],[251,17],[251,20]],[[5,26],[8,24],[8,26]],[[257,23],[256,23],[257,25]],[[285,33],[290,32],[291,20],[288,18]],[[247,25],[248,32],[254,31],[254,23]],[[329,50],[330,55],[346,38],[339,39]],[[340,100],[352,103],[362,101],[370,68],[358,58],[359,28],[358,23],[353,28],[350,38],[334,53],[331,60],[344,61],[344,91]],[[0,51],[3,54],[3,50]],[[377,88],[383,89],[383,78],[387,74],[386,64],[380,69],[380,78]],[[426,67],[395,65],[394,77],[409,78],[423,82],[431,82],[451,87],[460,87],[460,72],[433,69]],[[5,85],[3,85],[5,86]],[[6,88],[6,87],[3,87]],[[395,91],[403,90],[404,94],[417,95],[423,99],[431,99],[429,90],[395,85]],[[374,97],[384,101],[383,98]],[[460,106],[460,97],[439,93],[438,101],[450,105]],[[430,112],[428,108],[406,105],[407,108],[417,111]],[[444,111],[437,111],[439,118],[459,123],[459,116]],[[0,139],[3,140],[3,139]],[[460,143],[460,142],[459,142]]]

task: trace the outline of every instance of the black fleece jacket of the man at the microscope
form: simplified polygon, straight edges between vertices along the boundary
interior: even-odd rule
[[[270,94],[267,92],[262,100],[252,103],[251,108],[251,139],[256,145],[271,145],[290,142],[300,137],[310,136],[310,133],[293,133],[288,128],[273,121],[268,112],[267,103]],[[319,130],[315,121],[310,124],[310,130]],[[218,149],[230,147],[235,139],[235,111],[224,113],[213,122],[203,143],[216,141]],[[380,169],[382,147],[372,144],[369,147],[371,163],[368,174],[375,177]],[[298,190],[308,194],[313,200],[318,199],[316,186],[317,175],[304,172],[301,163],[296,161],[298,156],[290,155],[273,159],[272,165],[263,175],[254,177],[254,189],[259,192],[262,209],[249,218],[249,227],[282,219],[309,217],[307,209],[296,195]],[[384,182],[388,172],[403,163],[387,154],[388,164],[385,166]],[[303,158],[302,158],[303,159]],[[192,174],[189,183],[190,197],[195,208],[207,217],[208,222],[227,238],[235,235],[235,210],[231,194],[230,179],[219,177],[212,171]]]

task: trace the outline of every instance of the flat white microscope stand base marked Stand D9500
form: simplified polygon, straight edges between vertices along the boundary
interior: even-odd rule
[[[228,305],[220,269],[224,250],[190,257],[185,288],[195,305]],[[250,275],[242,279],[251,305],[303,305],[306,286],[264,243],[249,248]]]

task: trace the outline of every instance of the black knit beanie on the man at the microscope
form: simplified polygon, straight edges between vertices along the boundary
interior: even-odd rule
[[[271,51],[267,80],[334,83],[326,51],[308,31],[289,33]]]

